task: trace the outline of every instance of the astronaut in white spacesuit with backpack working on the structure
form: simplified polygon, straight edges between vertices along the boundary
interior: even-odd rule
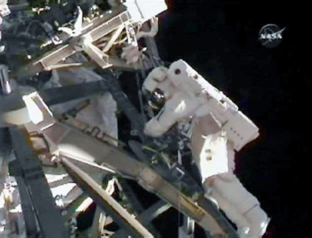
[[[176,122],[191,120],[191,151],[205,196],[216,200],[241,238],[262,237],[268,216],[234,174],[234,151],[259,135],[257,126],[183,60],[153,69],[143,90],[160,90],[165,101],[157,116],[146,123],[144,133],[158,137]]]

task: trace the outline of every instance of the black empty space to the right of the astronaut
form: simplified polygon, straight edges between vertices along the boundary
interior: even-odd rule
[[[182,58],[209,76],[260,128],[261,136],[236,154],[236,173],[272,219],[266,237],[310,237],[307,4],[170,0],[168,6],[159,17],[161,58]],[[286,27],[274,49],[258,40],[266,24]]]

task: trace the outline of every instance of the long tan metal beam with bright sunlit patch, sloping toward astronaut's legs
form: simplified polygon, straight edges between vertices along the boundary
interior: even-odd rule
[[[50,139],[51,143],[58,146],[60,155],[94,161],[116,170],[121,176],[133,178],[148,191],[154,192],[184,214],[191,216],[206,230],[211,230],[216,234],[223,234],[223,230],[209,214],[209,210],[203,210],[191,198],[162,178],[157,171],[135,160],[125,151],[99,142],[58,122],[46,128],[44,135]]]

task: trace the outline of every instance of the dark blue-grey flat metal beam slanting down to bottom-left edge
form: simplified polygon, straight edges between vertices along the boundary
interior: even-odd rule
[[[15,155],[21,168],[43,237],[67,237],[62,216],[56,208],[40,162],[24,128],[9,128]],[[23,201],[21,201],[23,203]]]

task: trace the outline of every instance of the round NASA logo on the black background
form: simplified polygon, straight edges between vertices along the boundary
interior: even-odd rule
[[[268,24],[263,26],[259,31],[259,40],[263,46],[266,46],[267,48],[274,48],[281,43],[281,33],[284,30],[285,27],[281,29],[275,24]]]

